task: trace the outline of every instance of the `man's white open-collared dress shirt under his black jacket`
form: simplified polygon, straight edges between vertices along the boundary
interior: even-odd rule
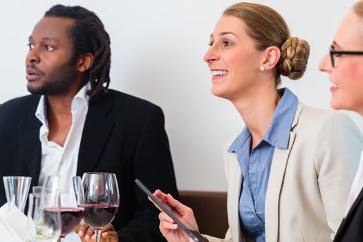
[[[41,96],[35,116],[43,124],[40,127],[41,167],[39,185],[43,185],[46,176],[60,176],[61,189],[73,191],[72,177],[77,172],[78,152],[82,138],[84,121],[89,110],[89,96],[86,92],[91,89],[88,83],[73,97],[71,104],[72,125],[64,146],[48,140],[48,120],[46,118],[46,97]],[[62,202],[62,201],[61,201]]]

